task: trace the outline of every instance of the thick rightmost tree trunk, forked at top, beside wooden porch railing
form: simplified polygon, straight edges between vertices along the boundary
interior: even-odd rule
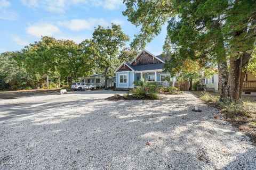
[[[230,58],[229,68],[229,98],[232,101],[241,99],[243,83],[251,54],[244,52],[238,59]]]

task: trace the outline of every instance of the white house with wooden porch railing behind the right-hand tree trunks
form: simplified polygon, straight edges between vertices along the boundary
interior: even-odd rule
[[[216,73],[209,78],[201,78],[199,82],[206,86],[206,91],[218,92],[219,75]],[[256,96],[256,77],[251,73],[245,74],[242,95]]]

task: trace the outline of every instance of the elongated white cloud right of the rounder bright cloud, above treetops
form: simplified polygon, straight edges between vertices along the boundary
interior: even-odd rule
[[[88,20],[73,19],[70,21],[59,22],[59,25],[63,25],[72,31],[80,30],[92,30],[97,25],[102,25],[103,27],[108,26],[109,23],[102,18],[90,18]]]

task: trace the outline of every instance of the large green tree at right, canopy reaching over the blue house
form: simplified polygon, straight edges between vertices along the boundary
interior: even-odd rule
[[[132,46],[144,48],[161,32],[162,25],[167,21],[163,49],[164,54],[169,56],[169,61],[165,63],[165,70],[172,75],[182,73],[182,79],[195,79],[196,74],[200,73],[198,68],[208,69],[218,63],[221,66],[220,82],[223,83],[220,87],[226,88],[228,84],[233,88],[229,90],[229,94],[221,90],[221,98],[227,95],[236,100],[235,96],[241,96],[238,89],[243,83],[235,81],[237,84],[233,86],[234,81],[228,74],[233,72],[230,75],[237,74],[241,77],[241,63],[243,72],[246,71],[255,43],[255,1],[125,0],[124,3],[126,10],[123,14],[135,26],[141,26]],[[187,64],[192,63],[191,61],[198,65],[193,65],[193,70],[187,70]]]

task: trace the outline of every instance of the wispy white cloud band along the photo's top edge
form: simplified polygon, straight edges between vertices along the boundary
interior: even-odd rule
[[[32,8],[43,8],[50,12],[63,13],[70,6],[79,7],[99,7],[108,10],[115,10],[123,3],[122,0],[21,0],[23,5]]]

